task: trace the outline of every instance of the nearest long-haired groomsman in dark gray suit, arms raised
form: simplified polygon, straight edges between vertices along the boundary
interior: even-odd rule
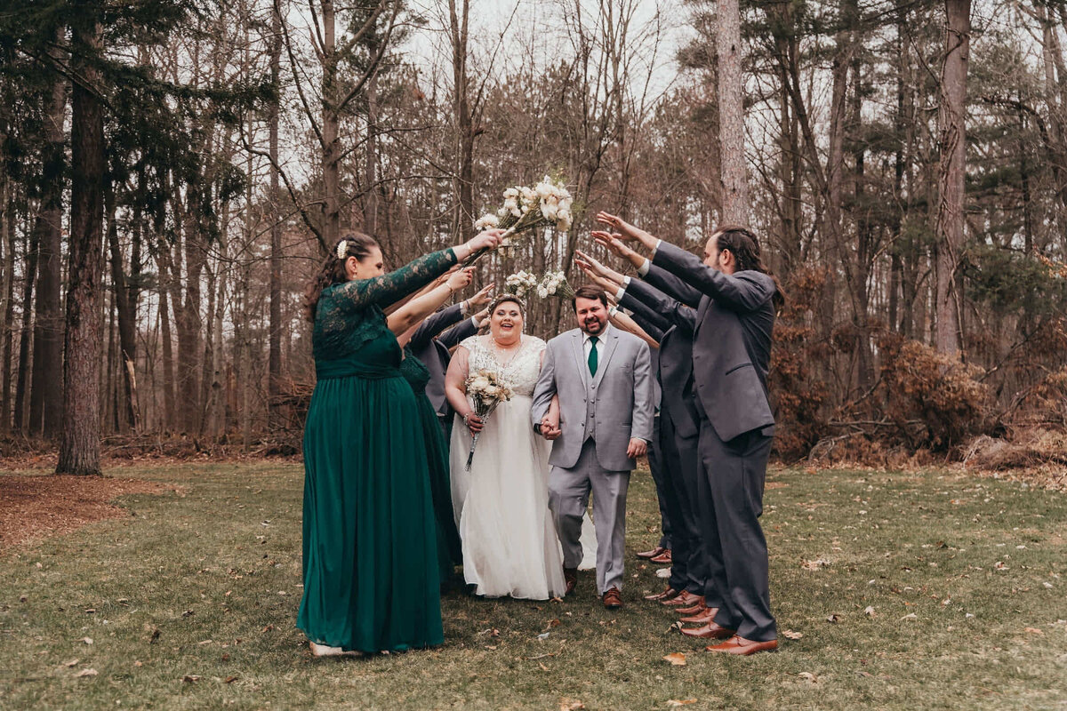
[[[777,649],[767,543],[759,521],[775,430],[767,369],[782,300],[777,279],[744,227],[716,230],[701,262],[615,215],[602,212],[598,220],[622,239],[643,244],[654,265],[703,294],[692,336],[694,405],[700,416],[699,481],[711,502],[703,506],[704,543],[718,599],[706,600],[715,614],[702,636],[726,639],[710,651]]]

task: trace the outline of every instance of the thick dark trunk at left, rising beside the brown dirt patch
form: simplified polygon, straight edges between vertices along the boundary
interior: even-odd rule
[[[66,337],[63,360],[63,436],[57,473],[100,473],[97,363],[100,359],[100,276],[103,272],[103,107],[99,72],[80,55],[100,50],[99,25],[75,27],[70,131],[70,266],[67,270]],[[84,82],[84,83],[83,83]],[[87,84],[87,86],[85,85]]]

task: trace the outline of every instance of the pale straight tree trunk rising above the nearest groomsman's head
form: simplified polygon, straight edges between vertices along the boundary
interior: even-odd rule
[[[748,178],[745,162],[744,46],[737,0],[716,3],[716,49],[719,86],[719,156],[722,180],[722,222],[747,225]]]

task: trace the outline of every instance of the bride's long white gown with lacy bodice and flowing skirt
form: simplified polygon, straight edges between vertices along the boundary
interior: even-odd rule
[[[465,470],[471,433],[459,417],[452,426],[452,504],[463,540],[463,577],[485,597],[562,597],[563,554],[548,511],[552,442],[530,425],[530,395],[545,343],[523,336],[514,357],[501,365],[490,350],[490,338],[474,336],[461,343],[468,352],[468,372],[495,371],[514,394],[485,423],[471,471]],[[590,562],[596,550],[591,535],[587,516],[583,545],[592,551],[586,555]]]

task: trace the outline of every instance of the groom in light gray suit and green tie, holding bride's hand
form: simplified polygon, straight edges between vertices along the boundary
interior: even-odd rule
[[[654,416],[649,346],[608,325],[607,296],[582,287],[574,301],[578,327],[548,341],[530,418],[554,440],[548,506],[563,546],[567,592],[577,583],[582,518],[593,495],[596,589],[604,607],[622,607],[626,489],[635,458],[652,440]],[[559,419],[550,415],[559,395]]]

